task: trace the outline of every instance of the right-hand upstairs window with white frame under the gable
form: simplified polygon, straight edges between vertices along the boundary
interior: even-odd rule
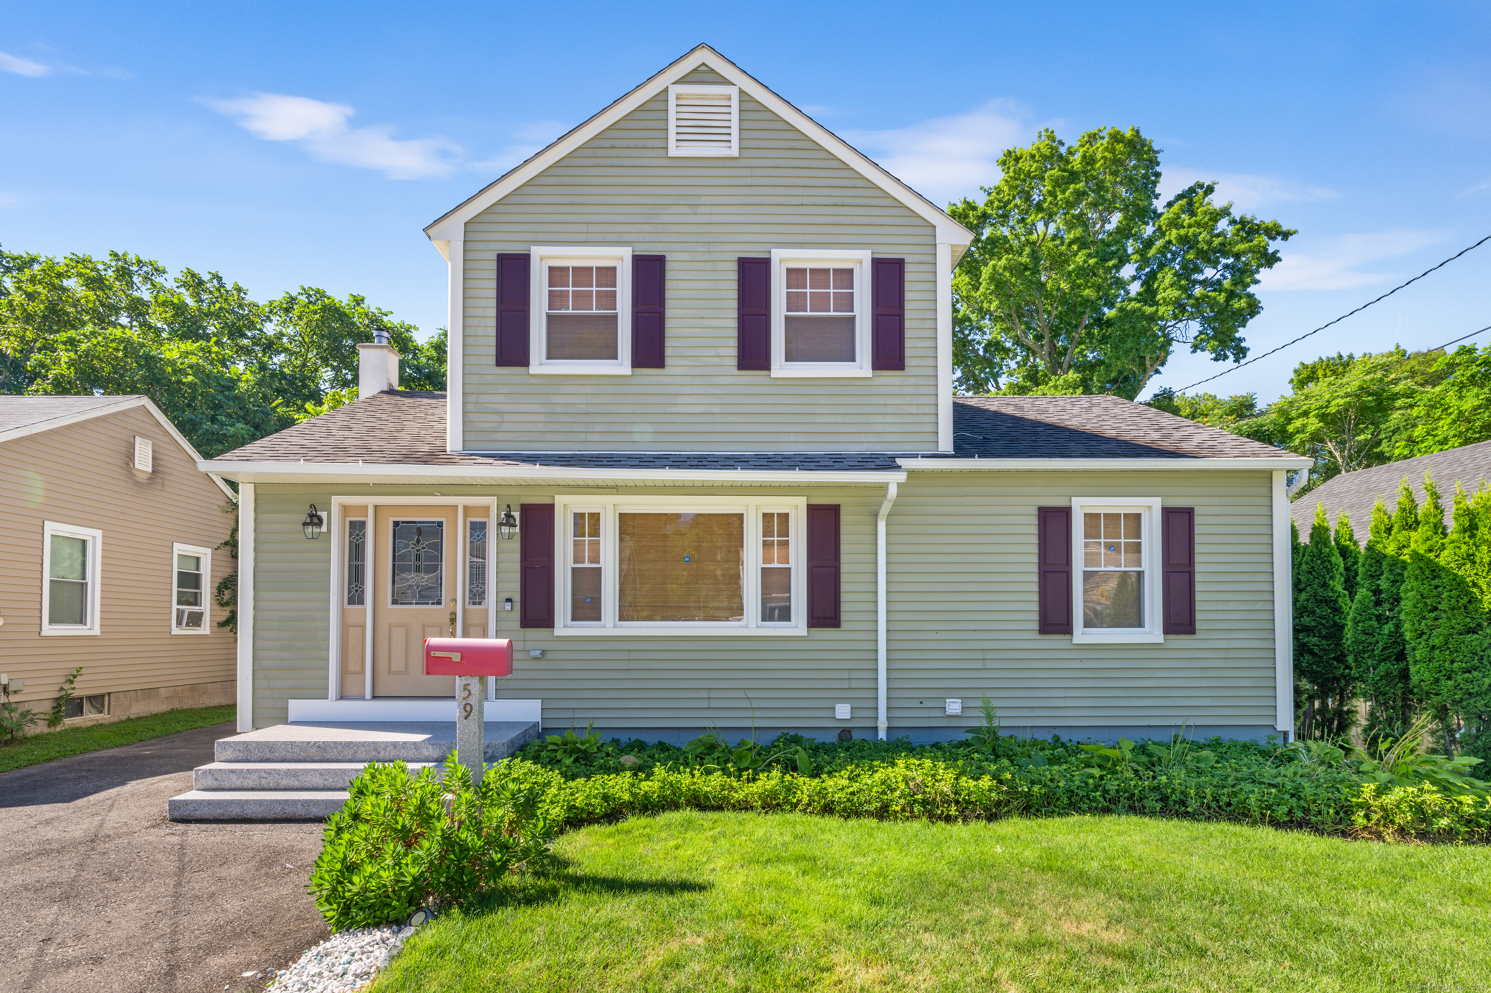
[[[869,252],[771,253],[772,376],[869,376]]]

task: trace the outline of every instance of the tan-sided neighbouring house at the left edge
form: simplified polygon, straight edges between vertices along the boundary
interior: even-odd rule
[[[0,395],[0,671],[67,725],[234,702],[233,499],[145,397]]]

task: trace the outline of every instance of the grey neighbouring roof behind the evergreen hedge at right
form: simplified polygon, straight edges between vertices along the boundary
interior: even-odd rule
[[[1419,455],[1330,477],[1290,507],[1294,525],[1300,531],[1300,540],[1309,541],[1309,529],[1315,523],[1315,508],[1325,504],[1325,519],[1330,520],[1330,526],[1334,528],[1340,514],[1345,513],[1351,520],[1351,531],[1357,535],[1357,541],[1366,544],[1367,529],[1372,526],[1372,508],[1381,499],[1391,514],[1397,507],[1403,480],[1408,480],[1408,485],[1413,488],[1413,499],[1421,507],[1424,505],[1425,473],[1433,477],[1439,488],[1439,497],[1445,502],[1445,525],[1452,526],[1449,508],[1455,483],[1464,486],[1467,494],[1473,494],[1484,483],[1491,483],[1491,441],[1478,441],[1458,449],[1446,449],[1433,455]]]

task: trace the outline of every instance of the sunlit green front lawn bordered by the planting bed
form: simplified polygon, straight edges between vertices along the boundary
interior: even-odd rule
[[[1144,817],[675,813],[409,941],[376,993],[1488,989],[1491,850]]]

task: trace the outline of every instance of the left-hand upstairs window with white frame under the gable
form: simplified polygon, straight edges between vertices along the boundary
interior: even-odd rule
[[[628,248],[534,248],[529,371],[626,376],[632,365]]]

